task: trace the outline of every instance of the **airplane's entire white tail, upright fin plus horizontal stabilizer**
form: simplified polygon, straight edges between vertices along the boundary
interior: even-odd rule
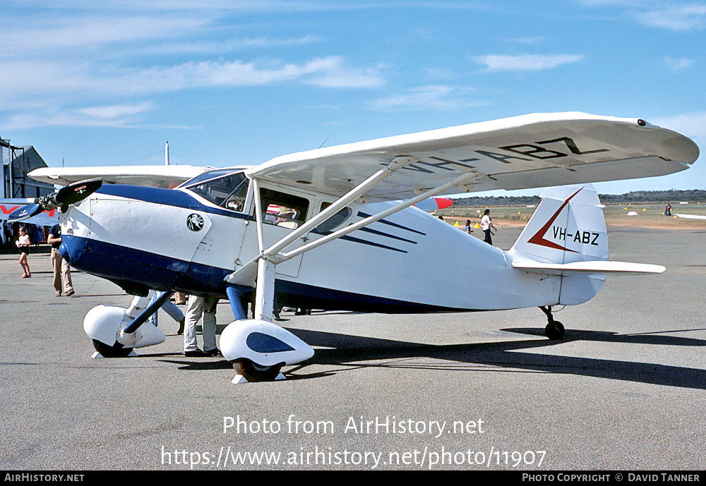
[[[558,277],[558,304],[580,304],[600,290],[606,274],[658,274],[659,265],[609,262],[606,220],[596,190],[544,190],[542,202],[508,255],[515,269]]]

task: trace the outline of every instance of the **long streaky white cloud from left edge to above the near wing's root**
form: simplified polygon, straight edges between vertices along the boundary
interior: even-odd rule
[[[193,87],[261,86],[298,81],[321,87],[370,88],[384,83],[376,70],[348,66],[339,56],[305,63],[281,61],[201,61],[177,66],[124,68],[61,61],[6,63],[0,71],[0,103],[5,109],[32,104],[38,96],[78,102],[92,97],[124,97]]]

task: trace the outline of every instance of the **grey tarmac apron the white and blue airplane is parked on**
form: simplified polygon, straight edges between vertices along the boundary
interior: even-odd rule
[[[283,312],[316,355],[249,384],[223,358],[186,358],[162,311],[163,344],[91,359],[83,316],[131,297],[73,272],[76,295],[56,298],[49,255],[30,255],[31,279],[0,255],[0,469],[701,470],[705,241],[609,228],[611,260],[667,271],[609,277],[559,310],[561,341],[537,308]]]

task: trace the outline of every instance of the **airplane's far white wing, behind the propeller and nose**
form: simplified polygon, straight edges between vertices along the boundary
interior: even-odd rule
[[[208,170],[193,165],[136,165],[97,167],[43,167],[28,176],[37,181],[66,186],[67,184],[101,178],[103,183],[174,188]]]

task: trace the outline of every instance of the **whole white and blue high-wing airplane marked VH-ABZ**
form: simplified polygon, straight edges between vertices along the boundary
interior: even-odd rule
[[[590,183],[671,174],[698,154],[683,135],[639,119],[533,114],[205,171],[174,189],[78,181],[104,176],[103,168],[73,176],[39,169],[30,176],[69,186],[29,213],[61,208],[61,254],[73,267],[128,293],[162,292],[139,315],[102,305],[88,312],[84,329],[103,356],[164,341],[145,320],[174,291],[226,295],[235,321],[220,336],[223,356],[246,380],[271,380],[283,365],[313,356],[273,323],[274,305],[371,312],[539,307],[546,336],[560,339],[564,328],[552,306],[590,300],[606,274],[664,271],[608,261]],[[116,178],[114,172],[104,181]],[[561,187],[544,190],[508,251],[412,207],[441,194],[543,186]],[[286,209],[279,217],[270,214],[277,207]],[[240,297],[253,291],[251,320]]]

